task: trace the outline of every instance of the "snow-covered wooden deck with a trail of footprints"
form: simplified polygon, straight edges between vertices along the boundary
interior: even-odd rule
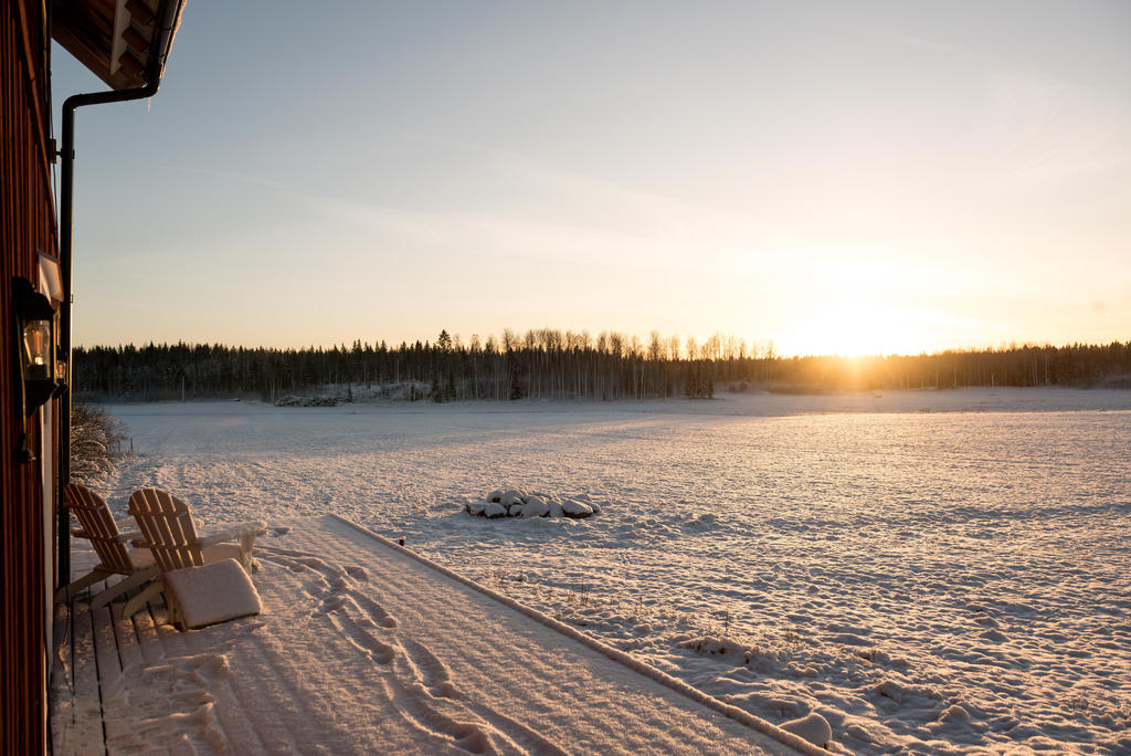
[[[337,517],[256,556],[259,617],[58,608],[54,751],[823,753]]]

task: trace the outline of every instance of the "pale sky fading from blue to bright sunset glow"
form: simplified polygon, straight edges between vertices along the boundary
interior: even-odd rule
[[[1131,3],[190,1],[78,344],[1131,340]],[[104,85],[53,51],[62,100]]]

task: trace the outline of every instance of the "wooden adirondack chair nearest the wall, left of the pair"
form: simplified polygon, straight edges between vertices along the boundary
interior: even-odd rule
[[[113,575],[123,579],[111,585],[90,599],[90,608],[97,609],[127,591],[145,585],[161,574],[153,555],[145,549],[130,549],[127,543],[140,533],[121,532],[105,499],[79,483],[67,483],[63,488],[67,507],[78,519],[80,527],[71,531],[75,538],[90,541],[100,562],[83,577],[66,585],[55,593],[55,601],[67,601],[85,587]]]

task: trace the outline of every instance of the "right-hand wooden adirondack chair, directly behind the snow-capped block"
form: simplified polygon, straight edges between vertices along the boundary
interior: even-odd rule
[[[130,496],[129,513],[141,531],[141,538],[133,541],[135,548],[149,549],[162,573],[188,567],[202,567],[224,559],[236,559],[247,573],[256,572],[259,565],[251,557],[256,535],[267,529],[267,523],[251,521],[232,525],[205,536],[197,534],[189,506],[172,493],[155,488],[143,488]],[[239,540],[239,543],[231,541]],[[165,590],[161,577],[145,591],[127,602],[123,617],[132,617],[145,603]],[[175,602],[169,600],[170,621],[176,621]]]

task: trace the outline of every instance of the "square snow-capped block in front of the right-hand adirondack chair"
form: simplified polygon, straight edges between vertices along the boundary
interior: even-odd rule
[[[235,559],[174,569],[165,573],[162,579],[189,628],[258,615],[264,610],[259,592]]]

